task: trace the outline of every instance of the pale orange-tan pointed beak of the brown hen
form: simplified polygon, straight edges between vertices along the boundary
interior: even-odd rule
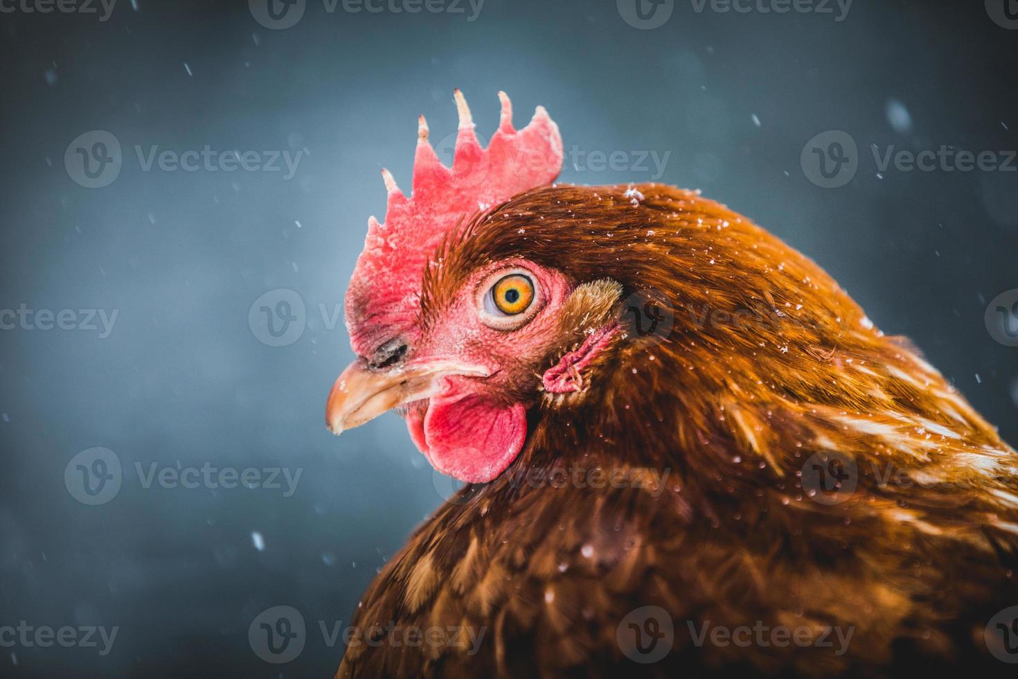
[[[363,361],[355,360],[332,386],[325,407],[326,427],[339,436],[398,405],[431,398],[443,388],[440,378],[451,375],[488,377],[491,372],[480,365],[434,359],[373,373]]]

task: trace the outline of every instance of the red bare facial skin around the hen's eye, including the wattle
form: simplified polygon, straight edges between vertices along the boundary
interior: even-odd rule
[[[485,323],[483,298],[509,269],[529,273],[538,290],[528,310],[536,310],[518,328],[500,330]],[[452,359],[489,372],[439,378],[438,394],[407,407],[410,438],[436,469],[485,483],[515,459],[526,438],[526,409],[538,395],[535,375],[556,348],[559,310],[571,290],[558,271],[514,260],[479,270],[436,309],[408,363]]]

